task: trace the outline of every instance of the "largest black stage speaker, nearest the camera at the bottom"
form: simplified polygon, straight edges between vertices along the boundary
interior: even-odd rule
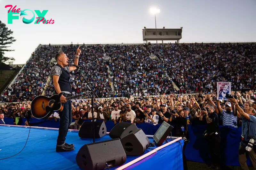
[[[125,161],[124,148],[118,138],[85,144],[76,155],[77,165],[86,170],[108,169],[108,167],[122,165]]]

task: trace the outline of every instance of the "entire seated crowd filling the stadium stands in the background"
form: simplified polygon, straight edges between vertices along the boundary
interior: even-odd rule
[[[74,60],[78,45],[67,45],[62,51]],[[215,92],[217,82],[231,82],[232,90],[256,88],[256,45],[254,43],[191,43],[147,45],[89,45],[82,47],[77,70],[71,72],[73,94],[90,84],[98,97],[160,95],[162,93]],[[44,88],[60,47],[41,47],[0,97],[1,102],[33,100],[44,91],[51,96],[51,82]],[[158,59],[151,59],[154,54]],[[109,56],[110,60],[104,60]],[[50,64],[49,64],[50,63]],[[174,82],[180,91],[173,88]],[[113,85],[113,89],[111,88]]]

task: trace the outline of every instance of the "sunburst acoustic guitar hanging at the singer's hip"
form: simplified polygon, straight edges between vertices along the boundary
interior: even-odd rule
[[[51,97],[37,96],[31,102],[31,114],[36,119],[47,119],[54,113],[54,111],[61,112],[63,110],[63,103],[60,103],[60,96],[62,94],[63,92],[60,94],[54,94]],[[88,91],[79,95],[67,97],[66,100],[68,101],[79,97],[90,97],[92,95],[93,92]]]

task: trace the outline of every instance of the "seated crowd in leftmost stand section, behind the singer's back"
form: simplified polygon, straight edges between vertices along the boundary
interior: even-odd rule
[[[50,61],[59,49],[59,46],[37,48],[13,84],[2,92],[0,102],[32,101],[41,95],[51,70]]]

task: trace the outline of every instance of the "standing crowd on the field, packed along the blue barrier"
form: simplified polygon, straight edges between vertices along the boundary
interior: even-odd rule
[[[238,128],[242,126],[244,141],[239,148],[239,163],[246,169],[245,146],[247,146],[250,137],[256,136],[256,92],[249,91],[245,93],[231,92],[236,94],[237,98],[230,98],[228,101],[216,100],[215,92],[199,95],[177,95],[162,94],[160,96],[144,96],[130,98],[103,98],[94,100],[93,106],[91,99],[82,99],[72,101],[72,117],[75,122],[70,125],[71,129],[79,129],[83,120],[97,120],[131,123],[151,123],[156,125],[164,121],[171,124],[173,136],[183,137],[185,145],[189,142],[188,124],[206,124],[204,138],[209,146],[212,169],[219,169],[220,166],[220,134],[219,125]],[[9,103],[9,105],[0,105],[0,115],[13,117],[14,124],[19,125],[20,118],[25,118],[26,110],[30,109],[29,102]],[[92,114],[92,107],[94,112]],[[54,113],[49,119],[59,118],[58,113]],[[250,120],[247,123],[247,120]],[[26,122],[26,124],[28,124]],[[248,124],[248,125],[247,125]],[[250,127],[250,137],[248,129]],[[185,149],[185,145],[183,149]],[[253,151],[249,152],[251,156],[256,156]],[[251,158],[250,156],[250,158]],[[184,155],[183,155],[184,157]],[[251,159],[253,166],[256,162]],[[186,162],[183,162],[186,169]]]

